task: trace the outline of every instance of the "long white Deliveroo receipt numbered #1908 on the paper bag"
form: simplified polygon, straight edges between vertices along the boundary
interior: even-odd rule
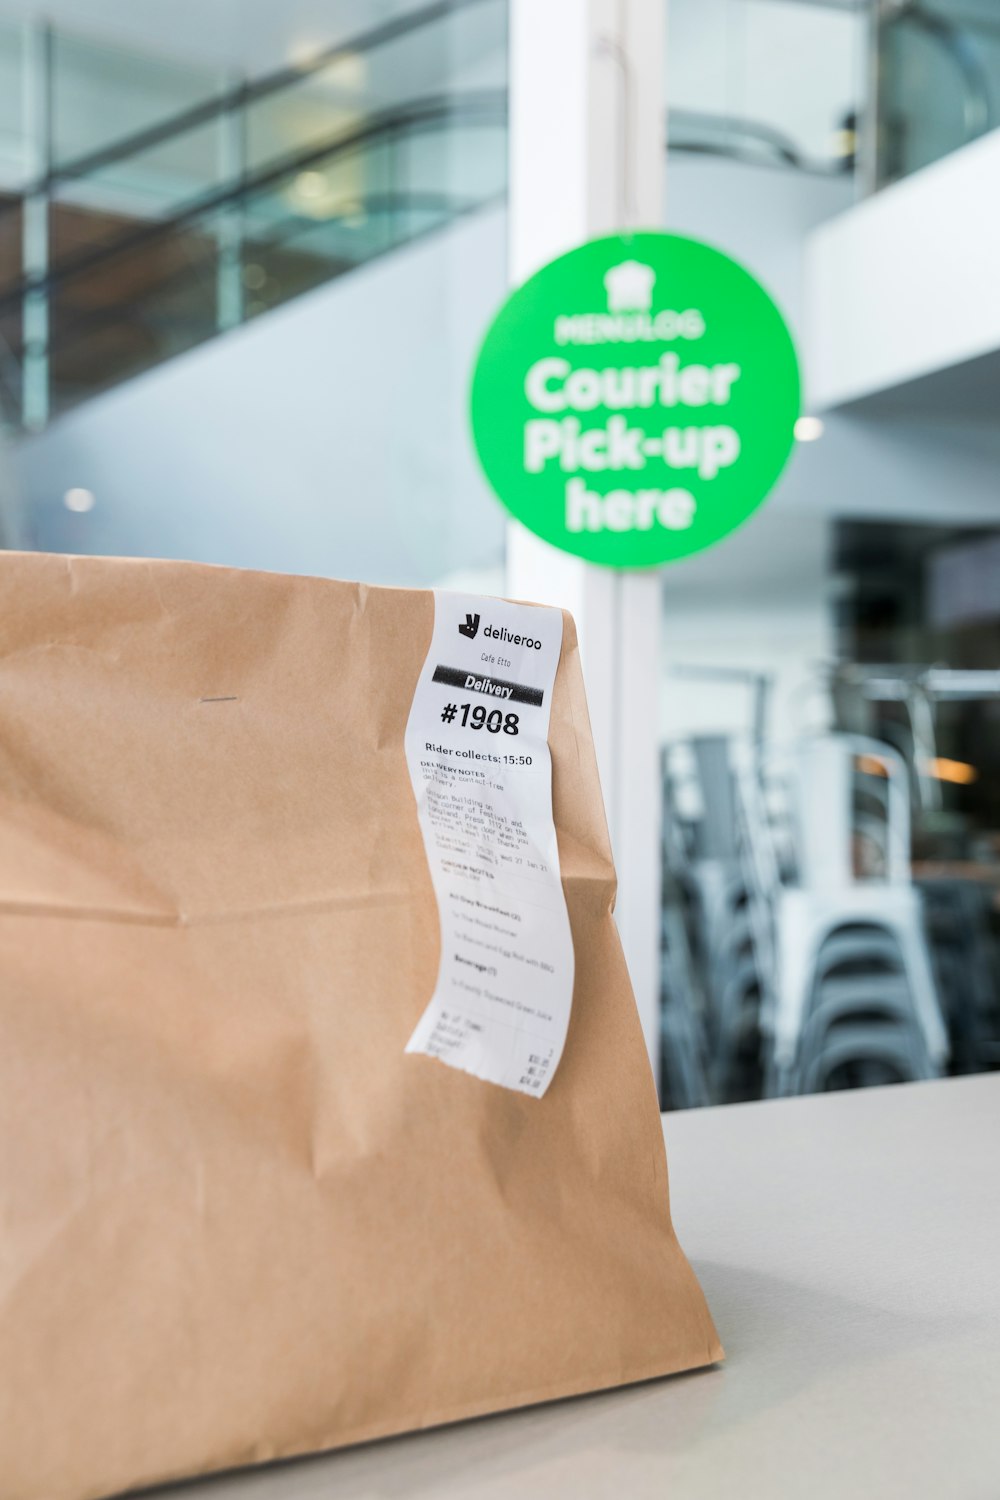
[[[540,1098],[573,1004],[573,938],[552,820],[558,609],[435,591],[406,723],[441,920],[441,966],[406,1052]]]

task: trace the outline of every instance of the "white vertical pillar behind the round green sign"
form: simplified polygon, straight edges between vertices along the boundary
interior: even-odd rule
[[[510,279],[663,222],[666,0],[511,0]],[[618,866],[618,926],[660,1050],[660,576],[618,574],[511,522],[507,590],[576,616]]]

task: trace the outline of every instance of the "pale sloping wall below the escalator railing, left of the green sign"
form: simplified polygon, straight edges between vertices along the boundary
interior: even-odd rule
[[[33,544],[499,586],[465,408],[504,284],[483,213],[87,402],[16,452]]]

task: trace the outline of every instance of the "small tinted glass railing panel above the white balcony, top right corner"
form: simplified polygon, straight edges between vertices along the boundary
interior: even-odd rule
[[[870,186],[885,188],[1000,124],[997,0],[882,0]]]

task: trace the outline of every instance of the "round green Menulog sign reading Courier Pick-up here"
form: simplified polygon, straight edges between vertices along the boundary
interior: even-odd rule
[[[607,567],[712,546],[792,450],[799,366],[750,272],[679,234],[591,240],[511,292],[472,376],[472,435],[504,506]]]

